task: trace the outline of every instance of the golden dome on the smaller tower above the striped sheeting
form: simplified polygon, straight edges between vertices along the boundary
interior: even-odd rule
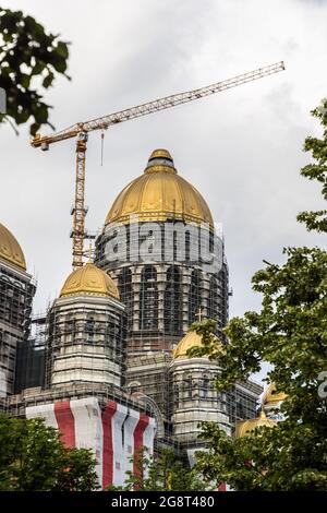
[[[119,291],[113,281],[92,262],[73,271],[60,293],[61,298],[78,295],[112,296],[119,299]]]

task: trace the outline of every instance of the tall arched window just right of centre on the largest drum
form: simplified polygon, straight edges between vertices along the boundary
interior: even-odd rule
[[[165,332],[171,335],[182,333],[181,275],[178,267],[169,267],[165,290]]]

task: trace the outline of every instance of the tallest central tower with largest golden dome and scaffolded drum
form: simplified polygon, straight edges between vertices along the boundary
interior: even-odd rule
[[[170,353],[199,308],[220,330],[228,319],[228,267],[209,207],[166,150],[110,208],[96,264],[126,305],[128,355]]]

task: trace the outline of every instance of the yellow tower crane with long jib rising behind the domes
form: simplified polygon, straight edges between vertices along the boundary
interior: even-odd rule
[[[87,210],[84,204],[85,191],[85,154],[88,132],[94,130],[107,130],[109,127],[130,121],[134,118],[141,118],[159,110],[169,109],[177,105],[186,104],[195,99],[204,98],[215,93],[220,93],[231,87],[237,87],[247,82],[253,82],[258,79],[278,73],[284,70],[283,61],[259,68],[247,73],[233,76],[232,79],[216,82],[215,84],[206,87],[201,87],[185,93],[173,94],[165,96],[164,98],[155,99],[146,104],[136,105],[135,107],[121,110],[119,112],[109,114],[107,116],[95,118],[89,121],[78,122],[68,127],[64,130],[55,132],[50,135],[36,134],[31,141],[33,147],[40,147],[43,151],[49,150],[49,146],[59,141],[76,138],[76,177],[75,177],[75,202],[72,208],[73,215],[73,269],[83,266],[83,247],[84,239],[87,237],[85,234],[85,216]]]

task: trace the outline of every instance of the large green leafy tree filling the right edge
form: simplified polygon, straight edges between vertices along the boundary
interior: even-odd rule
[[[306,139],[314,163],[301,172],[322,183],[327,199],[327,116],[317,109],[313,115],[320,119],[324,135]],[[301,213],[299,219],[308,230],[327,232],[326,211]],[[266,381],[287,394],[281,405],[284,420],[274,428],[257,428],[233,440],[216,425],[204,425],[203,437],[211,450],[198,456],[198,469],[237,490],[327,489],[327,253],[302,247],[286,248],[283,254],[282,265],[267,264],[253,276],[262,309],[229,322],[223,351],[213,339],[213,321],[193,325],[203,334],[204,348],[191,354],[217,360],[219,390],[268,362]]]

